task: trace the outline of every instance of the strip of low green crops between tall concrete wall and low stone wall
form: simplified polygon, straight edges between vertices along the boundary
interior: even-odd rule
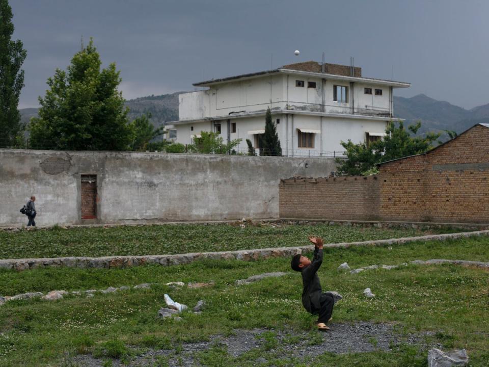
[[[20,232],[0,231],[0,258],[163,255],[188,252],[233,251],[307,245],[315,233],[324,243],[381,240],[431,233],[456,232],[445,227],[424,231],[413,228],[362,228],[327,224],[285,225],[184,224],[97,228],[61,227]]]

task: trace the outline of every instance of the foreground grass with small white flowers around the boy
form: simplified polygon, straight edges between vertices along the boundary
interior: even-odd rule
[[[322,228],[321,228],[322,229]],[[338,228],[340,229],[340,228]],[[317,233],[317,232],[316,232]],[[32,234],[32,233],[29,233]],[[37,233],[36,233],[37,234]],[[338,273],[347,261],[352,268],[372,264],[399,265],[429,258],[489,260],[489,239],[472,238],[446,242],[424,242],[392,247],[325,249],[319,276],[324,290],[336,290],[344,299],[334,310],[337,323],[374,321],[398,325],[403,334],[430,331],[429,345],[442,343],[443,349],[466,348],[471,366],[489,365],[489,273],[453,265],[407,266],[393,270],[370,270],[352,275]],[[59,301],[39,299],[10,301],[0,307],[0,365],[74,365],[71,357],[92,353],[111,365],[111,356],[131,358],[147,348],[170,349],[177,358],[182,343],[207,340],[210,335],[229,334],[233,329],[267,328],[266,343],[258,350],[232,357],[225,347],[195,355],[208,366],[425,366],[426,350],[401,345],[391,352],[325,353],[315,358],[284,357],[286,347],[274,342],[278,330],[307,331],[308,343],[318,338],[315,318],[302,308],[301,277],[291,273],[250,285],[235,286],[237,279],[271,271],[290,271],[290,259],[256,262],[201,261],[175,267],[129,269],[38,269],[25,272],[0,271],[0,294],[48,292],[51,290],[104,289],[107,286],[158,283],[149,290],[127,290],[96,294],[93,298],[68,296]],[[203,289],[171,289],[170,281],[207,282]],[[362,295],[365,287],[376,294]],[[181,321],[159,320],[164,294],[194,306],[207,302],[201,315],[182,313]],[[128,348],[131,346],[131,348]],[[273,348],[271,348],[273,347]],[[68,354],[66,354],[68,353]],[[168,359],[157,365],[164,366]]]

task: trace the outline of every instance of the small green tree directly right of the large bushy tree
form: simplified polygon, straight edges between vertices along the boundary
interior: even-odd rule
[[[163,126],[160,126],[155,129],[153,124],[149,120],[150,118],[151,114],[144,114],[135,118],[129,124],[129,128],[132,132],[132,142],[129,147],[131,150],[162,150],[162,142],[155,142],[151,144],[150,141],[165,134],[165,128]],[[158,147],[160,149],[157,149]]]

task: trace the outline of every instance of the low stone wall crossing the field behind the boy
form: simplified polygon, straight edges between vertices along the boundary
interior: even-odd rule
[[[467,237],[487,236],[489,230],[474,232],[431,234],[420,237],[405,237],[399,239],[362,241],[362,242],[343,242],[337,244],[326,244],[324,247],[342,247],[352,246],[382,246],[396,245],[415,241],[444,241],[449,239],[459,239]],[[254,261],[259,259],[268,259],[273,257],[288,257],[295,254],[311,252],[314,250],[313,245],[297,247],[276,247],[252,250],[238,251],[219,251],[219,252],[196,252],[177,255],[146,255],[146,256],[104,256],[104,257],[55,257],[55,258],[26,258],[26,259],[7,259],[0,260],[0,269],[8,270],[31,270],[49,267],[68,267],[68,268],[129,268],[146,264],[171,266],[190,264],[193,261],[203,259],[213,260],[242,260]]]

